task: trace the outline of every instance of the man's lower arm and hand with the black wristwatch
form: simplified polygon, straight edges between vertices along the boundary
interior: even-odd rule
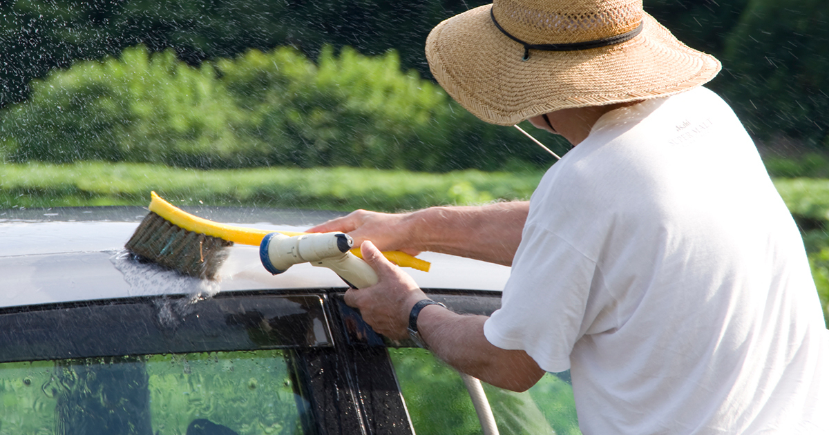
[[[412,278],[365,242],[363,259],[377,272],[379,282],[370,288],[346,292],[346,303],[360,310],[375,331],[392,339],[408,336],[406,328],[414,304],[428,298]],[[441,360],[455,369],[504,389],[523,391],[536,384],[544,370],[523,350],[504,350],[483,335],[484,316],[462,316],[429,305],[418,317],[418,331]]]

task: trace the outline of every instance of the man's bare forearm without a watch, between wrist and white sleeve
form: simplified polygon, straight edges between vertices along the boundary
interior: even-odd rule
[[[406,216],[414,249],[511,265],[530,203],[431,207]]]

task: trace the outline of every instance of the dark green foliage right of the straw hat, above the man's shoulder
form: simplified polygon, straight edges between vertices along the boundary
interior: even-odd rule
[[[708,86],[755,138],[829,147],[829,2],[825,0],[645,0],[681,41],[717,56]],[[804,159],[807,160],[807,159]],[[812,162],[776,159],[778,176],[812,176]],[[829,176],[821,173],[820,176]]]

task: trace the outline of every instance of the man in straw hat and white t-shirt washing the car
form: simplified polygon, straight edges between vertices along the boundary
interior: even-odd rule
[[[346,302],[369,325],[402,338],[411,317],[441,359],[507,389],[569,369],[585,434],[829,433],[829,332],[802,240],[701,87],[717,60],[636,0],[498,0],[440,23],[426,56],[479,118],[529,119],[574,148],[529,203],[312,229],[362,242],[380,283]],[[502,308],[430,304],[378,248],[509,264]]]

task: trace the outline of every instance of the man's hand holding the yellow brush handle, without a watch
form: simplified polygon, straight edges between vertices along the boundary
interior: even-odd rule
[[[361,245],[366,240],[381,251],[403,251],[417,255],[419,250],[411,249],[413,243],[410,227],[406,220],[410,213],[390,214],[376,211],[355,210],[349,215],[329,220],[308,230],[309,233],[328,233],[341,231],[354,239],[354,244]]]

